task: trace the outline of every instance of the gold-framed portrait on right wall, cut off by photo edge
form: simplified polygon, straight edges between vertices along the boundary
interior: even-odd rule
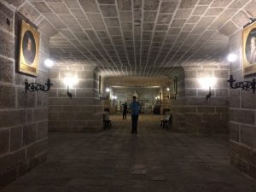
[[[256,23],[243,29],[242,65],[243,75],[256,73]]]

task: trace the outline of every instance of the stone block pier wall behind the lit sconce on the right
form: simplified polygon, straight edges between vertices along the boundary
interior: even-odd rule
[[[183,96],[173,102],[175,113],[173,126],[177,131],[201,132],[204,134],[228,133],[229,66],[223,63],[186,66],[184,69]],[[199,79],[215,77],[212,96],[207,101],[209,90],[201,88]]]

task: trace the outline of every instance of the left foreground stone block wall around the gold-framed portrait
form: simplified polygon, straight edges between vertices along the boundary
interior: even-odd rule
[[[43,163],[48,145],[48,93],[25,94],[24,83],[27,79],[29,83],[44,84],[48,79],[48,68],[43,63],[49,57],[49,38],[38,27],[38,77],[17,73],[20,16],[15,15],[15,6],[20,3],[13,2],[0,2],[0,189]],[[30,20],[31,13],[26,15]]]

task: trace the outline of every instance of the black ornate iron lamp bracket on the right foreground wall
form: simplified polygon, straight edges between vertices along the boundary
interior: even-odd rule
[[[251,81],[240,81],[240,82],[236,82],[236,84],[234,84],[236,79],[233,79],[233,75],[230,75],[230,79],[227,81],[230,83],[231,89],[241,88],[241,90],[253,90],[253,93],[255,93],[256,81],[254,78],[253,78],[252,82]]]

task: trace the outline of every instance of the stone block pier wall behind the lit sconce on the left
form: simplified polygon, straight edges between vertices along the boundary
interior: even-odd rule
[[[102,104],[98,96],[98,77],[89,65],[55,66],[50,70],[53,89],[49,92],[49,131],[102,130]],[[67,96],[66,77],[77,77],[78,83]]]

